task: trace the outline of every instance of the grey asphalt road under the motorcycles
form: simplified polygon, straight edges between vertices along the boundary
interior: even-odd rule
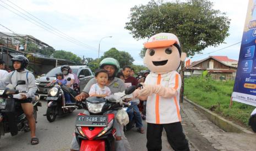
[[[53,123],[49,123],[43,116],[46,112],[46,101],[42,100],[42,107],[37,112],[36,136],[40,143],[30,144],[30,132],[19,132],[16,136],[7,133],[0,138],[0,150],[69,150],[74,131],[75,118],[83,110],[75,110],[73,113],[57,117]],[[144,126],[145,125],[144,121]],[[133,150],[146,150],[146,133],[141,134],[135,128],[126,132],[126,136]],[[163,149],[171,150],[166,138],[162,138]]]

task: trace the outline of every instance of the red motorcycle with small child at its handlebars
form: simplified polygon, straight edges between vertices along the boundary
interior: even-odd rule
[[[113,150],[116,129],[113,128],[115,114],[107,111],[117,111],[129,103],[123,102],[126,95],[132,94],[136,89],[130,86],[124,95],[118,99],[103,97],[88,97],[86,100],[76,102],[76,108],[87,109],[89,114],[79,113],[75,123],[75,137],[80,145],[80,151],[86,150]],[[105,114],[104,114],[105,113]]]

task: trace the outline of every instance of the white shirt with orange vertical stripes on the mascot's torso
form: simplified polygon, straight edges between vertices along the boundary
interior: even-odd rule
[[[179,112],[179,90],[181,89],[181,76],[176,71],[164,74],[150,72],[145,84],[161,85],[177,91],[173,97],[164,97],[159,94],[148,96],[146,101],[146,122],[153,124],[168,124],[181,121]]]

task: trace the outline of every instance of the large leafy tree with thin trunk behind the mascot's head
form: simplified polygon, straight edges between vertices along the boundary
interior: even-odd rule
[[[207,47],[217,47],[229,35],[230,19],[213,9],[208,0],[155,2],[130,9],[125,28],[136,39],[149,38],[160,32],[174,33],[187,56],[200,54]],[[181,63],[181,101],[184,90],[184,62]]]

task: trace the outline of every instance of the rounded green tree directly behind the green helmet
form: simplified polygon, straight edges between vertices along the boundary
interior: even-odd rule
[[[116,59],[119,62],[121,68],[125,65],[132,65],[134,61],[133,57],[129,53],[126,51],[119,51],[116,48],[111,48],[110,50],[106,51],[101,57],[101,60],[106,57],[112,57]]]

